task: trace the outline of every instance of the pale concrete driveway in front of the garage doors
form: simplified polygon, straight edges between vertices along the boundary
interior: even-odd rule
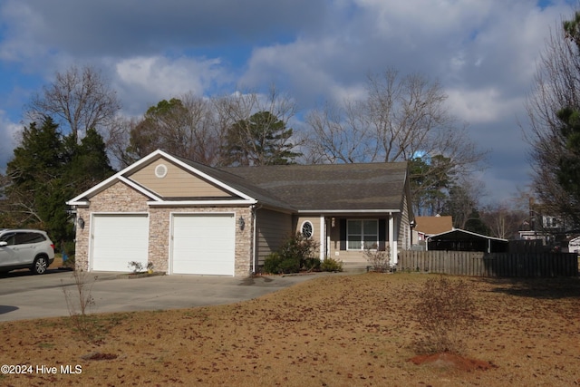
[[[150,276],[119,278],[117,273],[87,274],[94,306],[90,313],[130,312],[233,304],[238,301],[331,274],[304,276]],[[95,279],[96,277],[96,279]],[[78,304],[73,272],[49,269],[42,276],[29,271],[0,274],[0,321],[68,316],[64,291]]]

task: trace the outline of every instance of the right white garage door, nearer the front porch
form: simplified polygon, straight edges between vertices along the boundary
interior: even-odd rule
[[[233,214],[175,214],[172,224],[172,273],[234,276]]]

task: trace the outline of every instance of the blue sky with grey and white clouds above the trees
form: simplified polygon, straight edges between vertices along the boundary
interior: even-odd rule
[[[518,126],[539,53],[572,0],[0,0],[0,170],[31,93],[92,64],[139,115],[185,92],[271,84],[302,111],[394,68],[439,81],[488,150],[487,200],[528,183]]]

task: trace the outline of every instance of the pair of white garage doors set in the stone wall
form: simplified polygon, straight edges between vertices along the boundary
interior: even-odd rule
[[[233,214],[174,214],[169,230],[169,273],[234,276]],[[147,214],[94,215],[92,270],[128,272],[129,262],[147,266]]]

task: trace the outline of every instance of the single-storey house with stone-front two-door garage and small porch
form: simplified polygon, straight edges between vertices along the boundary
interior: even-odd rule
[[[366,263],[364,247],[411,246],[407,164],[211,168],[156,150],[67,202],[76,264],[168,274],[248,276],[302,232],[317,252]]]

